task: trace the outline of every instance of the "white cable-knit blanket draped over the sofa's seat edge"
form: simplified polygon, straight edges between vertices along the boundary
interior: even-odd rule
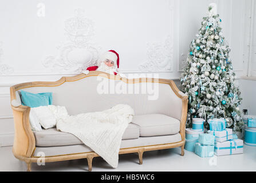
[[[117,167],[119,149],[125,129],[134,111],[129,105],[119,104],[103,112],[68,116],[57,121],[57,129],[78,137],[86,146]]]

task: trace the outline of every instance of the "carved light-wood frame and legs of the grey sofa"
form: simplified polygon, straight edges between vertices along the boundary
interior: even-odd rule
[[[25,161],[27,164],[27,171],[31,171],[31,162],[37,162],[38,158],[33,156],[34,150],[36,149],[36,139],[34,134],[30,128],[29,123],[29,112],[30,108],[28,106],[23,105],[15,105],[13,101],[16,100],[15,92],[24,89],[26,87],[35,87],[35,86],[59,86],[64,82],[73,82],[78,81],[80,79],[95,76],[101,74],[101,71],[90,71],[89,74],[78,74],[73,77],[62,77],[58,81],[55,82],[44,82],[44,81],[36,81],[36,82],[26,82],[20,83],[18,85],[14,85],[10,87],[10,99],[11,99],[11,108],[13,110],[14,117],[14,144],[13,144],[13,154],[18,160]],[[106,75],[106,73],[104,73]],[[116,79],[126,83],[136,83],[136,82],[155,82],[152,78],[136,78],[136,79],[127,79],[121,78],[119,75],[109,75],[109,79]],[[160,150],[160,149],[170,149],[181,147],[181,156],[184,156],[184,144],[185,144],[185,125],[187,118],[187,103],[188,97],[179,91],[178,87],[175,85],[174,81],[169,79],[158,79],[159,83],[166,83],[170,85],[171,89],[175,92],[176,96],[182,99],[182,116],[180,119],[180,136],[182,137],[182,141],[170,143],[170,144],[159,144],[159,145],[149,145],[149,146],[139,146],[134,148],[124,148],[120,149],[119,154],[125,153],[138,153],[139,155],[139,164],[143,163],[143,153],[150,150]],[[94,152],[86,152],[86,153],[75,153],[75,154],[65,154],[60,156],[46,156],[45,162],[54,162],[54,161],[65,161],[65,160],[76,160],[87,158],[88,161],[88,169],[92,170],[92,160],[94,157],[98,157],[99,155]]]

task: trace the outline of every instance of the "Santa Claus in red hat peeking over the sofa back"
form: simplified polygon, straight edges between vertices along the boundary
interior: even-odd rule
[[[99,66],[88,67],[82,73],[88,74],[89,71],[99,70],[109,74],[117,74],[117,69],[119,68],[119,54],[115,50],[109,50],[102,54],[99,58]]]

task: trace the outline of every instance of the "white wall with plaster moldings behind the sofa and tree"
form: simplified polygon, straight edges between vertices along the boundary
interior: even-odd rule
[[[11,85],[74,75],[105,50],[120,54],[122,73],[157,73],[177,81],[211,2],[218,4],[234,69],[238,77],[246,75],[248,0],[2,0],[0,145],[13,141]]]

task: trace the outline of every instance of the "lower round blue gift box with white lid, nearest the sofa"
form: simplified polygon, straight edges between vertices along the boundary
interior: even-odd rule
[[[198,142],[199,134],[203,132],[198,132],[192,130],[192,128],[186,129],[186,143],[185,149],[191,152],[195,151],[195,143]]]

